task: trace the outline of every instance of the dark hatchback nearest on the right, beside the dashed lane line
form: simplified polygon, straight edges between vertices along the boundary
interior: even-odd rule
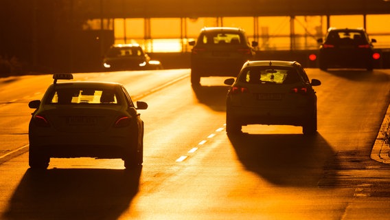
[[[226,129],[240,133],[248,124],[302,126],[306,135],[317,133],[317,96],[305,70],[297,62],[248,61],[236,80],[229,78]]]

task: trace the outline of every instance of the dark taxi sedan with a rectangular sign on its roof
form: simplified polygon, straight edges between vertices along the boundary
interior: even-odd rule
[[[71,74],[55,74],[29,125],[31,168],[47,168],[50,157],[122,158],[126,168],[143,162],[144,122],[119,83],[61,82]]]

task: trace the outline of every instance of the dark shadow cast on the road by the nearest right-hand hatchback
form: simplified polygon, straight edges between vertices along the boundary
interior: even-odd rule
[[[338,166],[336,153],[320,134],[312,137],[248,133],[228,136],[244,167],[278,186],[315,188],[323,182],[329,160]],[[337,185],[336,178],[331,181],[329,186]]]

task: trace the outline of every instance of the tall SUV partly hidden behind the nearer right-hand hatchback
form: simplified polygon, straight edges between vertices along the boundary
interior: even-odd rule
[[[200,78],[207,76],[237,76],[242,65],[255,56],[245,31],[241,28],[203,28],[198,40],[190,41],[191,83],[200,85]]]

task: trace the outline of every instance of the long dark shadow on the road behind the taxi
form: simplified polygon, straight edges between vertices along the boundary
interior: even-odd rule
[[[1,219],[118,219],[138,192],[138,170],[26,171]]]

